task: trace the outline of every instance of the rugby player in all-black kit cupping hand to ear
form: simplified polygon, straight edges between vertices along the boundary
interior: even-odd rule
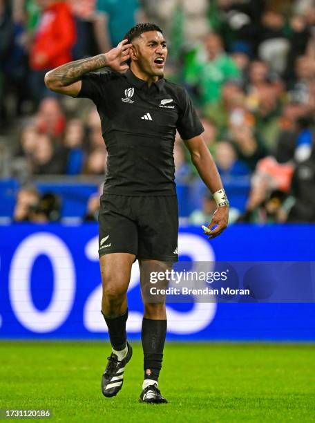
[[[105,397],[117,395],[122,388],[124,368],[132,356],[126,339],[126,292],[134,261],[139,261],[143,292],[145,266],[154,269],[178,260],[176,130],[218,206],[204,234],[214,238],[227,227],[229,203],[202,139],[204,129],[187,91],[164,79],[166,57],[162,30],[154,23],[140,23],[108,53],[64,64],[45,76],[50,90],[93,100],[108,151],[99,212],[102,314],[112,346],[102,375]],[[110,70],[95,72],[104,67]],[[167,402],[158,388],[166,336],[165,301],[155,303],[144,297],[143,301],[140,401],[159,404]]]

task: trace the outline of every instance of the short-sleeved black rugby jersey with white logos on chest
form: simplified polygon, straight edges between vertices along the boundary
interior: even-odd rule
[[[130,70],[87,73],[77,97],[93,100],[108,151],[104,192],[174,195],[176,129],[184,140],[204,131],[187,91],[159,79],[151,86]]]

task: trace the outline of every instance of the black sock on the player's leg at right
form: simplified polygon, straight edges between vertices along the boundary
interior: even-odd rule
[[[142,320],[142,348],[144,353],[144,379],[158,381],[162,368],[163,348],[166,336],[166,320]]]

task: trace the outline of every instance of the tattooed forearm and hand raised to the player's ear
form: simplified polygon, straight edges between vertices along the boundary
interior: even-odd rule
[[[81,78],[85,73],[97,71],[105,66],[112,68],[113,71],[126,71],[128,65],[123,62],[129,59],[129,47],[131,47],[131,44],[126,43],[127,40],[124,39],[108,53],[76,60],[49,71],[45,75],[46,86],[56,93],[75,97],[81,91]]]

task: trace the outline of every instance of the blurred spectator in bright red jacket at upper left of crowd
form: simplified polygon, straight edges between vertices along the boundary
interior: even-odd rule
[[[32,92],[37,101],[48,95],[44,75],[52,68],[70,62],[75,44],[75,21],[65,1],[37,0],[42,15],[30,50]],[[51,93],[50,93],[51,95]]]

